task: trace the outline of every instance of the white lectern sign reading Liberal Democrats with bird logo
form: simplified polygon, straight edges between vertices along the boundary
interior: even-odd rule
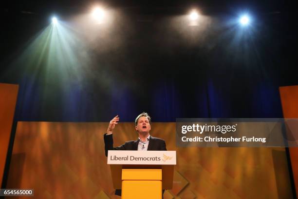
[[[108,164],[176,165],[176,151],[108,151]]]

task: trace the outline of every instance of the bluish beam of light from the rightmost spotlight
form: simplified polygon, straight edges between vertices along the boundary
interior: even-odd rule
[[[218,27],[222,25],[221,23],[223,21],[218,21]],[[241,14],[235,13],[219,29],[220,34],[216,42],[225,43],[223,54],[237,63],[233,67],[241,66],[246,70],[253,70],[252,67],[255,67],[254,70],[263,71],[261,68],[263,61],[257,43],[261,30],[259,25],[253,15],[241,12]]]

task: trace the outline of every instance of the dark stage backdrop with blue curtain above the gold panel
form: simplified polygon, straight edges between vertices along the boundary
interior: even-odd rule
[[[199,26],[179,20],[184,10],[119,9],[109,27],[86,30],[71,26],[73,13],[56,38],[48,16],[7,12],[0,82],[19,84],[20,121],[282,118],[279,86],[298,84],[298,33],[290,4],[279,4],[247,8],[246,29],[229,24],[239,7],[204,8]]]

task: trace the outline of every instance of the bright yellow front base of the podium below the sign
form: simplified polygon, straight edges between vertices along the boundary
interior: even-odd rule
[[[161,169],[122,169],[122,199],[161,199]]]

